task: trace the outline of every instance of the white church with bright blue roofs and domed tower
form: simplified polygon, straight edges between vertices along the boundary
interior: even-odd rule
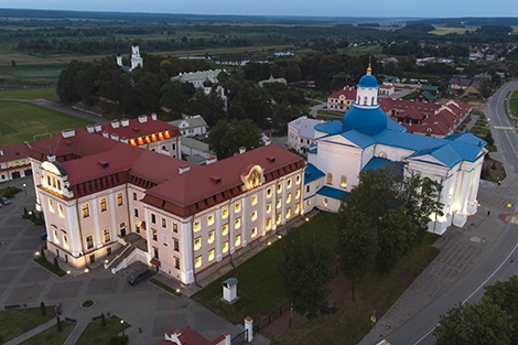
[[[467,131],[441,139],[407,133],[379,108],[379,86],[370,72],[369,66],[342,120],[314,127],[304,172],[304,212],[337,212],[342,195],[358,184],[361,172],[388,168],[441,183],[444,216],[432,215],[430,231],[443,234],[452,224],[462,227],[477,211],[486,142]]]

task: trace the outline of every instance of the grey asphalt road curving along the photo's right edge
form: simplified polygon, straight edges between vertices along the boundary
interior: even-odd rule
[[[492,98],[489,114],[492,126],[511,126],[505,115],[504,100],[510,89],[518,89],[518,80],[505,84]],[[493,137],[498,149],[505,153],[506,160],[512,166],[508,177],[517,180],[518,168],[518,133],[515,130],[495,129]],[[516,203],[515,203],[516,204]],[[518,273],[518,262],[511,263],[511,258],[518,258],[518,226],[507,224],[501,236],[494,242],[486,255],[461,279],[439,295],[432,303],[418,314],[391,332],[386,339],[393,345],[434,343],[432,332],[444,314],[458,302],[476,302],[484,293],[484,285],[494,284],[497,280],[505,281],[511,274]]]

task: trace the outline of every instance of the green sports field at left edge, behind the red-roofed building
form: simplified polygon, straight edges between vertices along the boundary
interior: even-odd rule
[[[57,136],[62,130],[85,128],[94,122],[33,104],[0,103],[0,147],[34,141]]]

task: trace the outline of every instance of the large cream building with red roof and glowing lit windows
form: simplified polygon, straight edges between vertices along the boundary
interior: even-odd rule
[[[302,214],[303,160],[273,144],[201,166],[64,131],[31,162],[47,248],[79,269],[138,260],[191,284]]]

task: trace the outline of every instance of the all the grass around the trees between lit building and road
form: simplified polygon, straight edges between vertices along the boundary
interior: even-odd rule
[[[322,240],[333,244],[335,214],[321,213],[296,230],[305,240]],[[314,237],[314,234],[319,234]],[[410,256],[403,257],[390,276],[370,274],[356,290],[356,302],[350,292],[338,302],[338,312],[316,321],[312,344],[357,344],[370,331],[369,316],[373,310],[382,316],[399,295],[416,280],[427,266],[438,256],[439,250],[431,247],[436,235],[427,234],[424,244],[414,248]],[[276,273],[276,265],[282,258],[284,239],[273,242],[248,261],[217,279],[192,298],[233,323],[240,323],[247,315],[257,322],[283,303],[287,297]],[[332,248],[330,248],[331,250]],[[239,300],[233,305],[219,301],[222,282],[229,278],[239,281]],[[268,332],[268,330],[266,331]],[[272,344],[306,344],[311,326],[295,326],[271,335]]]

